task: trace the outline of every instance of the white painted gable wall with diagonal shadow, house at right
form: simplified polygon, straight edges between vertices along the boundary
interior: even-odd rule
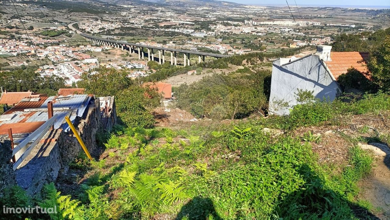
[[[300,104],[296,101],[298,89],[313,90],[316,98],[333,101],[340,87],[326,71],[318,55],[308,55],[282,65],[280,59],[275,60],[272,65],[269,113],[288,115],[293,106]],[[280,103],[287,103],[287,107]]]

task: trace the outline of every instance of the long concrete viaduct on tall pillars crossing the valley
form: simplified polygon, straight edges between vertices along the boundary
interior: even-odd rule
[[[172,49],[172,48],[163,48],[163,47],[157,47],[157,46],[148,46],[148,45],[141,45],[141,44],[132,44],[132,43],[124,43],[121,41],[112,41],[100,37],[91,36],[88,34],[84,34],[80,31],[78,31],[80,35],[82,35],[85,39],[92,41],[95,44],[103,44],[107,46],[113,46],[116,48],[120,48],[122,50],[128,50],[130,53],[138,53],[138,59],[143,60],[145,57],[144,48],[147,50],[147,57],[148,60],[154,60],[154,50],[158,51],[158,63],[164,64],[165,63],[165,52],[170,53],[170,64],[171,65],[177,65],[177,53],[183,53],[184,54],[184,66],[190,66],[190,55],[198,55],[199,57],[199,63],[204,62],[204,58],[207,57],[215,57],[215,58],[223,58],[223,57],[230,57],[230,55],[223,55],[223,54],[216,54],[216,53],[205,53],[200,51],[191,51],[191,50],[181,50],[181,49]]]

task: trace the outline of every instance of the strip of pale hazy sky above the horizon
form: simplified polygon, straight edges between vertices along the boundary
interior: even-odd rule
[[[285,0],[227,0],[241,4],[286,4]],[[294,0],[287,0],[289,5],[295,5]],[[378,5],[390,7],[390,0],[296,0],[298,5]]]

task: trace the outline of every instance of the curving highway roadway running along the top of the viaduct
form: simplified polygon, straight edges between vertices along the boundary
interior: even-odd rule
[[[74,22],[74,23],[77,23],[77,22]],[[80,30],[77,30],[76,28],[74,28],[73,27],[74,23],[69,24],[68,27],[71,28],[72,30],[76,31],[78,34],[82,35],[83,37],[90,37],[92,39],[99,40],[99,41],[106,41],[106,42],[115,43],[115,44],[144,47],[144,48],[156,49],[156,50],[166,50],[166,51],[179,52],[179,53],[190,53],[190,54],[207,56],[207,57],[216,57],[216,58],[230,57],[230,55],[217,54],[217,53],[206,53],[206,52],[201,52],[201,51],[181,50],[181,49],[164,48],[164,47],[158,47],[158,46],[149,46],[149,45],[143,45],[143,44],[124,43],[121,41],[112,41],[112,40],[104,39],[101,37],[96,37],[96,36],[92,36],[89,34],[85,34],[85,33],[81,32]]]

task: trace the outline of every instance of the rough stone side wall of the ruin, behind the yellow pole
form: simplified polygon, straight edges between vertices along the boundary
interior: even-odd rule
[[[90,153],[96,149],[96,134],[103,130],[98,99],[95,103],[74,123]],[[73,134],[61,129],[48,132],[16,170],[18,185],[30,195],[39,193],[45,183],[54,182],[59,173],[67,172],[80,151],[82,147]]]

